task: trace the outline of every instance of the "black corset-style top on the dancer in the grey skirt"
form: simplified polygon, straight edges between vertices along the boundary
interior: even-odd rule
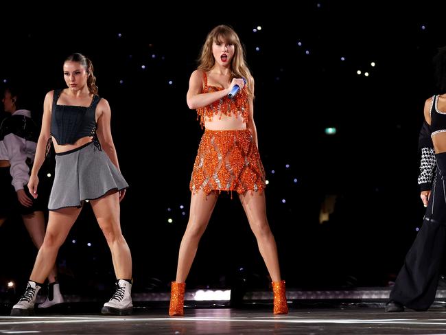
[[[73,144],[86,136],[96,138],[96,106],[101,98],[95,95],[88,107],[58,105],[57,101],[61,92],[60,89],[54,90],[51,136],[59,145]]]

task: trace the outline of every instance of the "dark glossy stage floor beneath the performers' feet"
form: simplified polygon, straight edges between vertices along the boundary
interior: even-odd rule
[[[165,308],[132,316],[0,316],[0,334],[446,334],[446,310],[385,313],[384,308],[294,309],[191,308],[169,317]]]

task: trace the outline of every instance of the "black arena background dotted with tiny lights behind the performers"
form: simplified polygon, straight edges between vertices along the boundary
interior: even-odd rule
[[[132,251],[134,292],[168,290],[202,134],[186,104],[189,76],[207,33],[232,25],[256,82],[268,218],[287,286],[388,286],[423,220],[417,140],[424,101],[438,93],[431,60],[446,45],[445,21],[436,17],[441,8],[307,1],[236,15],[224,6],[220,14],[176,8],[183,19],[167,8],[128,6],[121,16],[114,8],[113,16],[84,17],[75,7],[54,21],[32,15],[8,21],[0,32],[0,79],[21,83],[40,122],[45,93],[64,87],[64,59],[73,52],[91,58],[130,184],[121,227]],[[327,127],[336,135],[326,135]],[[328,195],[336,196],[334,211],[320,224]],[[0,253],[0,286],[25,282],[36,251],[19,218],[0,228]],[[89,205],[58,264],[64,292],[94,294],[113,284],[110,253]],[[246,278],[250,287],[266,288],[267,276],[239,200],[222,194],[188,287],[231,287]]]

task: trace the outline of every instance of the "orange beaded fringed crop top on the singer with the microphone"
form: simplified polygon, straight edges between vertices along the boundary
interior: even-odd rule
[[[211,93],[222,91],[222,87],[218,86],[208,86],[207,84],[207,74],[203,72],[204,79],[204,93]],[[200,118],[200,124],[204,126],[205,121],[212,121],[212,117],[214,115],[220,115],[220,119],[222,118],[222,114],[231,116],[235,115],[235,117],[239,117],[242,115],[243,122],[245,124],[248,123],[248,111],[249,111],[249,100],[248,100],[248,90],[246,86],[239,91],[233,99],[229,99],[227,96],[222,97],[220,100],[216,100],[212,104],[209,104],[204,107],[197,108],[197,119]]]

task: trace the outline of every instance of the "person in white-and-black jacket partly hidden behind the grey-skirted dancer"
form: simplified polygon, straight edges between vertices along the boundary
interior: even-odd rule
[[[0,124],[0,226],[14,211],[19,211],[32,242],[40,249],[45,236],[45,199],[34,199],[26,187],[39,129],[31,112],[21,109],[21,94],[13,86],[4,90],[2,102],[6,115],[10,116]],[[48,276],[48,297],[38,308],[49,308],[63,301],[54,265]]]

